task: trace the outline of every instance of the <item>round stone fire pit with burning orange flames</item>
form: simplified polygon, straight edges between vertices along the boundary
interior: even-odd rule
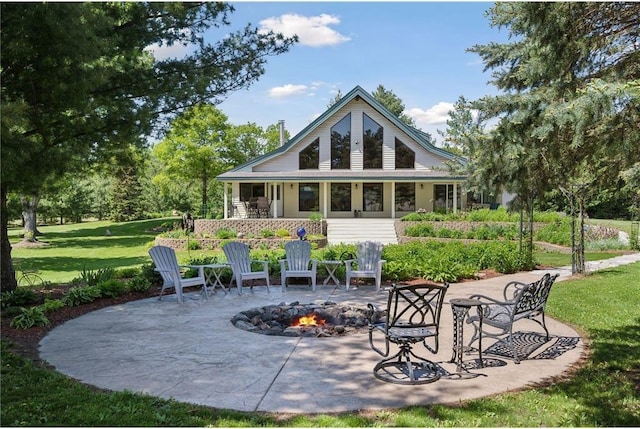
[[[383,311],[376,311],[374,320],[383,316]],[[366,332],[369,318],[366,305],[361,303],[282,302],[242,311],[233,316],[231,323],[236,328],[263,335],[334,337]]]

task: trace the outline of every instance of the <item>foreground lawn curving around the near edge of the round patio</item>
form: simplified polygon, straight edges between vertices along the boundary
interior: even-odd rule
[[[283,416],[105,392],[2,347],[3,426],[534,427],[640,425],[640,263],[559,282],[548,313],[588,335],[591,355],[566,380],[465,403]]]

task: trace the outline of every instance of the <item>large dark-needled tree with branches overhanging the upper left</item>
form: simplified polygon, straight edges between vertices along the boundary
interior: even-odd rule
[[[264,73],[296,41],[244,29],[208,43],[229,24],[227,3],[11,3],[2,38],[2,290],[16,287],[7,236],[9,190],[38,195],[47,178],[81,171],[115,148],[142,145],[167,115],[216,103]],[[183,45],[157,59],[153,46]]]

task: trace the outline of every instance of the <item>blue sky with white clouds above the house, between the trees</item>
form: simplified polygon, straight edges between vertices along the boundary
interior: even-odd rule
[[[508,41],[492,28],[490,2],[231,2],[231,26],[297,34],[289,52],[270,57],[265,73],[218,105],[229,122],[263,128],[285,121],[293,137],[321,115],[338,91],[379,85],[397,95],[416,126],[440,144],[448,111],[460,96],[496,94],[476,44]],[[210,41],[220,30],[207,34]],[[159,53],[156,53],[158,56]]]

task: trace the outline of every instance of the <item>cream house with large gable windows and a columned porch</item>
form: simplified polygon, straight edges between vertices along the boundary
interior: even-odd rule
[[[465,178],[445,165],[453,160],[357,86],[281,147],[217,180],[225,219],[400,218],[466,207]]]

